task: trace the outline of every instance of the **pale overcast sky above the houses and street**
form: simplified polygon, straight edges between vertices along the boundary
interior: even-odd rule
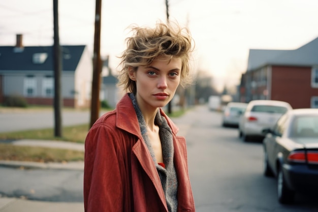
[[[96,1],[60,0],[61,45],[87,45],[93,52]],[[316,0],[169,0],[169,19],[187,26],[195,41],[193,70],[213,85],[239,84],[249,49],[297,49],[318,37]],[[116,70],[131,24],[166,21],[165,0],[102,0],[101,55]],[[0,0],[0,46],[53,45],[53,1]]]

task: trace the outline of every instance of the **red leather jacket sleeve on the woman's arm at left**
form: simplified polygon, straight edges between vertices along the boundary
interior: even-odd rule
[[[85,140],[85,212],[123,211],[120,148],[116,133],[105,124],[93,126]]]

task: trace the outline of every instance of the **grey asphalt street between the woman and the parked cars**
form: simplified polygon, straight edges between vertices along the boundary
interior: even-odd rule
[[[221,127],[220,113],[199,106],[178,122],[189,124],[185,136],[197,211],[318,211],[313,197],[279,204],[276,179],[263,176],[261,142],[243,142],[236,128]]]

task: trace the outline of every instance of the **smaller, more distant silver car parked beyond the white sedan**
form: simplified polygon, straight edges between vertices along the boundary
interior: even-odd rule
[[[225,107],[222,114],[223,127],[238,127],[241,115],[244,113],[247,103],[230,102]]]

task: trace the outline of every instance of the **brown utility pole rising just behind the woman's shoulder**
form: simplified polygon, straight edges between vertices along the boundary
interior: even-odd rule
[[[101,87],[101,13],[102,0],[96,0],[95,11],[95,34],[94,34],[94,54],[93,54],[93,78],[91,85],[90,104],[90,127],[99,118],[100,112],[100,87]]]

